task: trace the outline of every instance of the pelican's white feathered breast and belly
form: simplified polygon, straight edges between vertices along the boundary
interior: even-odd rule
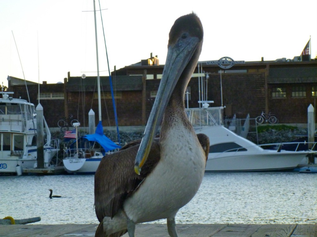
[[[124,203],[133,222],[175,216],[194,197],[203,179],[205,154],[196,134],[184,126],[173,126],[165,137],[159,163]]]

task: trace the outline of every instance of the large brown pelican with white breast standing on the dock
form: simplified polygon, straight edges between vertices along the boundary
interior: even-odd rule
[[[103,157],[95,173],[95,236],[134,237],[135,225],[175,216],[195,196],[204,176],[209,139],[196,135],[185,114],[184,93],[197,65],[203,27],[196,14],[178,18],[169,33],[159,90],[141,143]],[[155,137],[161,125],[160,136]],[[134,168],[134,169],[133,169]]]

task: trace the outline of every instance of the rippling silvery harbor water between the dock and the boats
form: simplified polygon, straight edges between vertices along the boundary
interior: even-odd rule
[[[99,223],[94,212],[94,175],[0,176],[0,218],[40,216],[37,224]],[[317,175],[205,173],[177,223],[317,223]],[[61,198],[49,198],[53,195]],[[165,223],[166,220],[158,222]]]

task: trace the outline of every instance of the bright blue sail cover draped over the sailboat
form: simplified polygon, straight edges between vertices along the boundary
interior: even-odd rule
[[[99,121],[94,134],[85,135],[83,136],[83,138],[86,138],[88,141],[99,143],[102,146],[102,148],[105,149],[105,152],[121,148],[103,134],[101,121]]]

